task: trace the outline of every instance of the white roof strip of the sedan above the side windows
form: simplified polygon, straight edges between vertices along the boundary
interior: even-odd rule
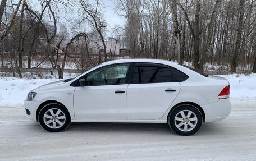
[[[112,63],[130,63],[130,62],[163,63],[167,65],[177,65],[177,62],[167,61],[162,59],[117,59],[113,61],[104,62],[102,64],[108,65]]]

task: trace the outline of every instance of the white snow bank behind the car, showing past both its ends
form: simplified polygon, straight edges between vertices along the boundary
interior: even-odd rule
[[[256,99],[256,74],[220,76],[230,81],[231,100],[241,98]],[[30,90],[57,80],[2,77],[0,78],[0,105],[23,104]]]

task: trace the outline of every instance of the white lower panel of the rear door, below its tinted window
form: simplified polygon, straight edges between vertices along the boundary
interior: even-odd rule
[[[175,89],[175,92],[166,92]],[[159,119],[180,91],[179,82],[130,84],[127,90],[127,119]]]

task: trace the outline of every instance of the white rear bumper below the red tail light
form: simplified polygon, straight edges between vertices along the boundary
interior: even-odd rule
[[[225,119],[231,111],[229,99],[220,99],[217,102],[202,105],[205,113],[205,122],[213,122]]]

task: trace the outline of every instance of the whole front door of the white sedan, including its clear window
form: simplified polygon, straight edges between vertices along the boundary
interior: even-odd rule
[[[126,119],[126,75],[130,63],[100,67],[74,92],[76,119]]]

